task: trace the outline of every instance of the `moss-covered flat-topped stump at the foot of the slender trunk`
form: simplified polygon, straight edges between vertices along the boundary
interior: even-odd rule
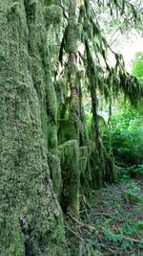
[[[71,140],[58,147],[61,161],[63,192],[62,207],[64,212],[79,215],[79,149],[76,140]]]

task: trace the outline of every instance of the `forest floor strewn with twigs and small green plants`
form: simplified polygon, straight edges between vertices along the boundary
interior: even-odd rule
[[[143,177],[124,175],[106,184],[83,207],[80,221],[67,224],[72,256],[143,255]]]

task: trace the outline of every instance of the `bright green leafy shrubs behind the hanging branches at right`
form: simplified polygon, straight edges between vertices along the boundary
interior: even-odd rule
[[[104,134],[104,143],[117,161],[140,164],[143,159],[143,114],[134,109],[123,109],[112,116],[111,134]],[[111,136],[111,137],[110,137]]]

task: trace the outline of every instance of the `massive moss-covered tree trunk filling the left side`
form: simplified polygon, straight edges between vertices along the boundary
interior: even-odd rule
[[[0,3],[2,256],[68,255],[46,154],[51,84],[43,10],[42,0]]]

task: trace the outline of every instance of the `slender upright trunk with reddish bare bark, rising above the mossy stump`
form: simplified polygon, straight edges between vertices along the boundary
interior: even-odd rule
[[[69,125],[71,139],[79,143],[79,84],[77,81],[78,16],[76,0],[69,5],[69,24],[67,32],[67,52],[69,54],[68,76],[71,91]]]

